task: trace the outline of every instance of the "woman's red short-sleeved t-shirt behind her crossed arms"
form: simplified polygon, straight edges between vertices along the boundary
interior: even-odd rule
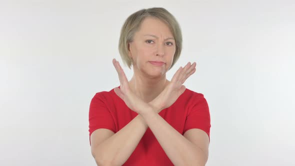
[[[91,133],[98,128],[107,128],[116,133],[135,116],[113,89],[97,92],[89,108],[89,141]],[[191,128],[210,133],[210,114],[203,94],[185,89],[168,108],[159,112],[173,128],[182,135]],[[91,144],[91,142],[90,142]],[[149,128],[123,165],[173,165]]]

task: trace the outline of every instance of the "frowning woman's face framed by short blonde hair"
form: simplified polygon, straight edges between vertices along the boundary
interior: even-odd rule
[[[129,43],[134,73],[151,77],[165,75],[175,53],[175,40],[169,27],[159,19],[147,17]]]

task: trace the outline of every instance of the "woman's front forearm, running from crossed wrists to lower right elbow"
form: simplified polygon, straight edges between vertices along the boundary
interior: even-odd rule
[[[141,115],[174,165],[205,164],[203,151],[152,111],[152,108]]]

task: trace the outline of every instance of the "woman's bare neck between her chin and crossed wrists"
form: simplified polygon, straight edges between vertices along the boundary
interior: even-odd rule
[[[149,102],[161,93],[168,82],[166,75],[148,78],[134,74],[129,80],[129,87],[140,99]]]

